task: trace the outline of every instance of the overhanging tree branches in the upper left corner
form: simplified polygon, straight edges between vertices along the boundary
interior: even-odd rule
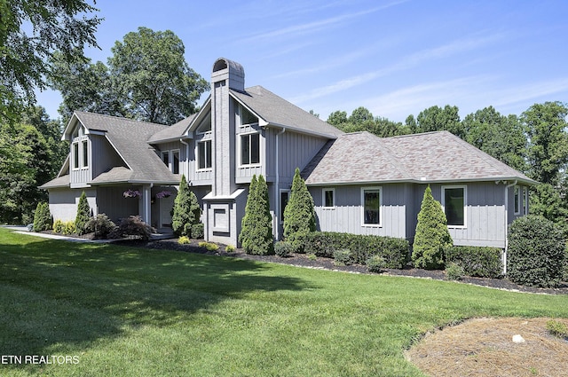
[[[54,51],[74,62],[83,59],[85,44],[98,47],[101,19],[87,17],[97,11],[83,0],[0,1],[0,122],[17,121],[23,107],[35,104]]]

